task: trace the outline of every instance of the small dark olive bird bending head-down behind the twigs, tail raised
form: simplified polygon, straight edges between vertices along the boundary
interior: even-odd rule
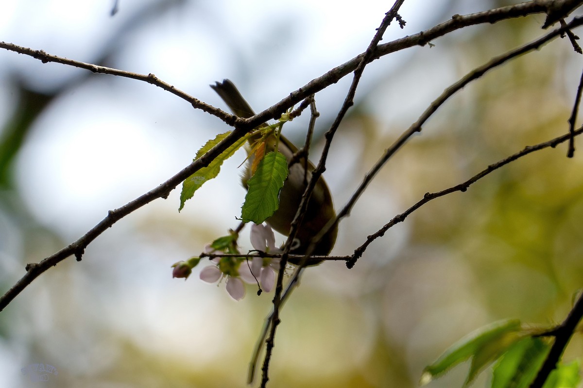
[[[255,115],[251,106],[247,104],[247,101],[245,101],[243,96],[241,96],[241,93],[230,80],[223,80],[222,83],[217,82],[210,87],[219,94],[234,115],[245,119]],[[252,136],[249,142],[254,143],[260,138],[261,134],[257,134],[257,136]],[[265,152],[273,151],[275,144],[276,138],[275,135],[272,134],[266,138]],[[248,151],[249,149],[250,148],[248,148]],[[297,148],[291,144],[287,138],[280,135],[278,151],[285,155],[289,165],[294,153],[297,152]],[[251,177],[251,162],[252,160],[248,163],[247,170],[241,178],[245,188],[247,188],[247,180]],[[308,166],[307,174],[304,169],[305,165]],[[287,179],[279,193],[279,209],[276,210],[271,217],[266,219],[269,226],[285,236],[289,236],[291,222],[296,215],[297,209],[300,207],[301,196],[304,194],[305,187],[307,186],[304,179],[307,177],[307,180],[309,181],[314,169],[315,167],[310,161],[307,161],[306,163],[305,156],[302,156],[296,163],[289,166],[289,174],[287,175]],[[296,240],[294,240],[293,245],[291,246],[290,253],[304,254],[308,245],[310,245],[312,237],[316,236],[324,228],[326,223],[334,218],[336,218],[336,212],[332,205],[332,195],[330,194],[330,190],[328,185],[326,185],[324,178],[319,177],[310,197],[310,201],[308,202],[308,208],[304,219],[298,227]],[[337,225],[324,234],[318,244],[315,245],[312,254],[328,255],[336,242],[336,234],[338,234]],[[290,262],[297,264],[293,260],[290,260]]]

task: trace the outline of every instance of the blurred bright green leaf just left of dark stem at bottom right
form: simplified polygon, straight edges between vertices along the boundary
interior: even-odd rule
[[[540,337],[514,343],[494,366],[492,388],[528,388],[549,350],[549,343]]]

